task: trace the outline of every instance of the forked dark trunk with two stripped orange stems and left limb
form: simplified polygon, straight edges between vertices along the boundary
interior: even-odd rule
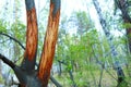
[[[0,59],[14,71],[20,82],[19,87],[47,87],[58,38],[60,0],[50,0],[48,26],[41,58],[37,70],[35,70],[35,64],[37,55],[38,29],[35,2],[34,0],[25,0],[25,5],[27,15],[27,30],[23,62],[21,66],[17,66],[2,54],[0,54]]]

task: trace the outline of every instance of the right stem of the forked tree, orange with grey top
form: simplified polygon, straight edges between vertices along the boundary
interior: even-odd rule
[[[53,14],[53,12],[56,13]],[[50,0],[48,26],[38,70],[38,77],[43,80],[43,87],[47,86],[50,76],[50,70],[52,65],[56,42],[58,38],[59,16],[60,16],[60,0]]]

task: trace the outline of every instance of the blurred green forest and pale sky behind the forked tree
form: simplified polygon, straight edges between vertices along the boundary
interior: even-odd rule
[[[38,59],[49,0],[35,0]],[[62,87],[131,86],[131,0],[61,0],[61,15],[51,76]],[[26,11],[20,0],[0,1],[0,53],[20,64],[25,46]],[[0,84],[17,85],[14,72],[0,60]],[[49,80],[49,87],[56,86]],[[57,86],[56,86],[57,87]]]

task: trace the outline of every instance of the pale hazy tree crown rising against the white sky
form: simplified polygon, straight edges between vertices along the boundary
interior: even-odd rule
[[[73,12],[72,14],[73,15],[70,17],[70,20],[73,22],[75,21],[74,24],[78,27],[78,35],[82,35],[94,27],[90,15],[85,11]]]

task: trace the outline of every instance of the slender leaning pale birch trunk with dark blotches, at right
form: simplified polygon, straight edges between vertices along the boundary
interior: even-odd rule
[[[105,33],[105,35],[107,37],[108,42],[109,42],[109,47],[110,47],[110,50],[111,50],[111,58],[114,60],[114,66],[115,66],[115,70],[117,72],[118,85],[119,85],[124,80],[124,73],[123,73],[123,71],[122,71],[122,69],[121,69],[121,66],[119,64],[119,61],[116,60],[116,58],[118,57],[118,53],[117,53],[117,50],[115,49],[115,46],[114,46],[114,44],[111,41],[112,37],[110,36],[110,32],[107,28],[106,20],[103,17],[99,3],[98,3],[97,0],[93,0],[93,3],[94,3],[95,9],[96,9],[96,11],[98,13],[102,27],[103,27],[104,33]]]

